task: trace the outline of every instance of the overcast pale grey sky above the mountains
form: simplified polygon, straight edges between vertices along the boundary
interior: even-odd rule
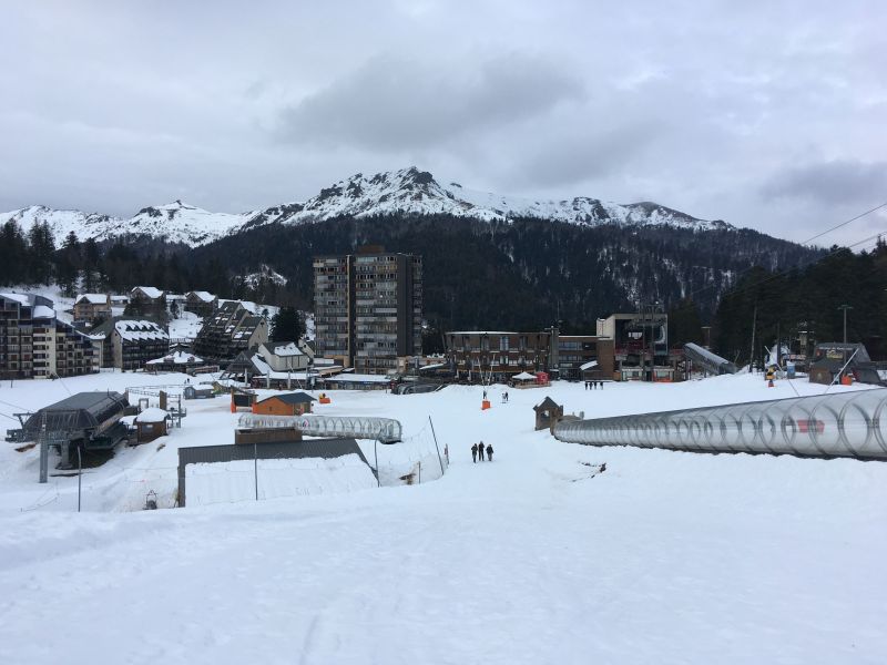
[[[887,202],[887,3],[0,4],[0,211],[299,201],[417,165],[804,241]],[[887,231],[873,214],[820,243]],[[863,247],[870,245],[861,245]]]

